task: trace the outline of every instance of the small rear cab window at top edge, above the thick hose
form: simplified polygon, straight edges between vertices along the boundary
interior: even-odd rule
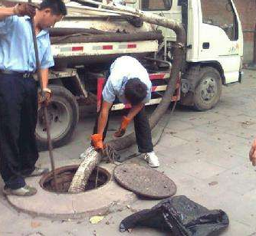
[[[169,11],[172,0],[142,0],[143,11]]]

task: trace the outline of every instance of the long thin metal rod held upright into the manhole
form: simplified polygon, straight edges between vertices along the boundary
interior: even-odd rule
[[[28,2],[31,3],[31,0],[28,0]],[[41,88],[41,96],[44,97],[45,94],[43,93],[43,80],[41,77],[41,64],[40,64],[39,57],[38,57],[38,41],[37,41],[37,37],[35,34],[34,18],[31,18],[31,30],[32,30],[32,35],[33,35],[36,70],[37,70],[38,80],[39,80],[40,88]],[[50,156],[50,160],[51,160],[51,171],[53,172],[53,175],[54,175],[54,187],[55,187],[55,191],[58,192],[57,178],[56,178],[56,173],[54,171],[55,165],[54,165],[54,156],[52,153],[52,143],[51,143],[50,125],[49,125],[49,120],[48,120],[48,110],[47,110],[46,106],[44,106],[44,123],[45,123],[45,127],[46,127],[47,139],[48,139],[48,150],[49,150],[49,156]]]

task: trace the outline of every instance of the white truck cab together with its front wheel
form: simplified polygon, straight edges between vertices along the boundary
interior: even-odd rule
[[[241,82],[243,33],[232,0],[139,0],[128,4],[181,22],[187,34],[181,103],[209,110],[218,103],[222,84]],[[171,59],[173,31],[159,27],[159,50]]]

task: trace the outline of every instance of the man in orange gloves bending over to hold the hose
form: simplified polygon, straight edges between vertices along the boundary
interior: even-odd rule
[[[153,152],[149,120],[144,108],[145,103],[148,103],[151,98],[151,87],[149,74],[135,58],[123,56],[113,62],[110,67],[110,77],[108,77],[102,92],[103,102],[94,126],[94,135],[91,136],[92,145],[95,149],[103,149],[109,110],[117,97],[120,102],[130,103],[132,107],[127,116],[123,116],[120,128],[114,136],[123,136],[129,123],[134,120],[139,152],[144,153],[144,159],[150,167],[159,166],[158,157]]]

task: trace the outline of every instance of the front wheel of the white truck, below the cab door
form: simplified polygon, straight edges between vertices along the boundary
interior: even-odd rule
[[[218,70],[212,67],[203,67],[199,71],[199,84],[195,88],[195,110],[210,110],[218,103],[222,95],[222,78]]]

